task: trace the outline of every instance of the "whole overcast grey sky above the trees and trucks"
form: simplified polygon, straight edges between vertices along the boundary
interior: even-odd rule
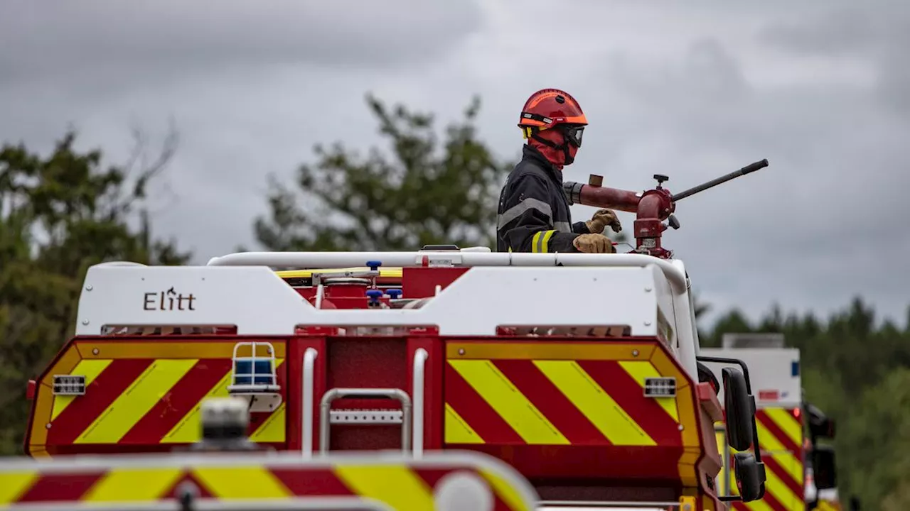
[[[566,179],[682,190],[768,158],[682,201],[664,238],[715,309],[826,315],[860,294],[904,324],[910,4],[863,5],[0,0],[0,140],[44,151],[74,125],[116,158],[132,125],[160,137],[172,117],[154,221],[204,262],[255,246],[268,174],[378,141],[367,91],[440,121],[480,94],[511,158],[527,96],[561,87],[591,123]]]

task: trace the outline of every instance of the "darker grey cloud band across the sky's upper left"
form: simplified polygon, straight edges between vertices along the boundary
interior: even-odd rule
[[[173,79],[217,67],[386,67],[443,58],[480,28],[473,2],[7,0],[0,83]]]

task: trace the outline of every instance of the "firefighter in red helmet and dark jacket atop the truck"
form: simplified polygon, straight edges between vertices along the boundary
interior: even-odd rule
[[[528,144],[502,187],[497,252],[615,252],[602,233],[607,225],[622,230],[616,214],[600,209],[572,224],[562,188],[562,168],[574,161],[585,125],[581,106],[561,90],[543,89],[525,102],[519,127]]]

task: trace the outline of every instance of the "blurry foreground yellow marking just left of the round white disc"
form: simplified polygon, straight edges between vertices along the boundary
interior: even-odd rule
[[[435,508],[432,488],[407,466],[336,466],[335,475],[359,496],[384,502],[396,511]]]

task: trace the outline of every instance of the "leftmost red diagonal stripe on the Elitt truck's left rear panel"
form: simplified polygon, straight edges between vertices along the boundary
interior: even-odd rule
[[[118,358],[57,416],[47,432],[48,445],[70,445],[136,378],[152,365],[148,358]]]

